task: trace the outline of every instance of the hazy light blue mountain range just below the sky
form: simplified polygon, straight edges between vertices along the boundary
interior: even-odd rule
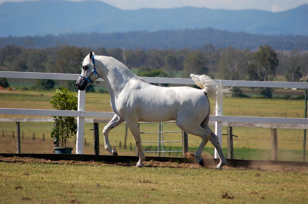
[[[194,7],[121,10],[100,1],[41,0],[0,4],[0,37],[204,28],[307,36],[308,4],[278,13]]]

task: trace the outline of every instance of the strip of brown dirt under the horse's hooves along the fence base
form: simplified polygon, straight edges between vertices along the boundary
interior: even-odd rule
[[[170,168],[207,168],[215,169],[216,163],[214,159],[207,153],[203,153],[202,157],[204,159],[204,167],[200,166],[193,153],[187,153],[185,155],[190,160],[190,163],[179,163],[179,162],[158,162],[158,161],[144,161],[144,167],[170,167]],[[75,161],[75,160],[59,160],[52,161],[48,159],[37,159],[31,157],[4,157],[0,156],[0,162],[8,163],[48,163],[48,164],[70,164],[70,165],[91,165],[91,166],[131,166],[134,167],[136,162],[96,162],[96,161]],[[252,163],[249,166],[240,167],[229,167],[224,166],[223,170],[260,170],[260,171],[298,171],[298,172],[308,172],[307,166],[291,166],[291,165],[270,165],[260,162]]]

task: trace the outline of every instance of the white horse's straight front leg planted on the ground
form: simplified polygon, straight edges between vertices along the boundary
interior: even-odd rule
[[[140,130],[138,127],[138,121],[137,122],[129,122],[126,120],[126,124],[130,131],[132,132],[132,135],[134,136],[135,144],[138,149],[139,153],[139,161],[136,165],[136,167],[143,167],[143,161],[145,160],[145,155],[141,146],[141,136],[140,136]]]

